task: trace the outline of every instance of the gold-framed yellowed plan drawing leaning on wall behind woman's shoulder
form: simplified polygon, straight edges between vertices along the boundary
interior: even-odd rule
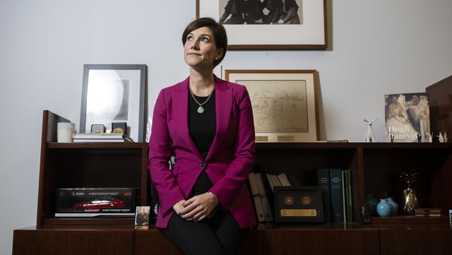
[[[246,86],[257,142],[318,140],[316,70],[225,70],[225,78]]]

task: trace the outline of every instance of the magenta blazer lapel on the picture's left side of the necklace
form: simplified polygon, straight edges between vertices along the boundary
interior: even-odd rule
[[[177,129],[181,130],[181,137],[184,139],[188,148],[202,160],[202,155],[197,150],[196,144],[191,138],[190,132],[188,132],[188,83],[190,77],[177,85],[174,93],[172,93],[172,105],[175,123],[177,123]],[[218,114],[217,114],[218,116]]]

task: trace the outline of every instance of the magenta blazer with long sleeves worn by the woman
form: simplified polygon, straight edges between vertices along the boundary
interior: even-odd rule
[[[187,199],[203,169],[213,183],[209,190],[241,228],[256,224],[245,183],[255,162],[255,127],[245,86],[214,77],[216,135],[206,160],[188,132],[188,83],[163,88],[157,97],[149,141],[150,170],[161,201],[156,226],[166,228],[172,206]],[[176,163],[170,170],[171,152]]]

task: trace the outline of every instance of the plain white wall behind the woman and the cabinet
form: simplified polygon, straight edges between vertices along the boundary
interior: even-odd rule
[[[157,3],[158,2],[158,3]],[[321,139],[383,139],[387,93],[452,75],[452,1],[328,0],[328,51],[227,52],[224,69],[316,69]],[[79,126],[84,63],[144,63],[149,98],[184,79],[195,1],[0,1],[0,254],[35,224],[42,110]]]

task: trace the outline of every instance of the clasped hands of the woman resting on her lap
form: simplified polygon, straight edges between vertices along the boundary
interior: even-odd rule
[[[193,196],[188,200],[177,202],[172,208],[183,219],[199,222],[211,214],[212,210],[218,205],[216,196],[210,192]]]

